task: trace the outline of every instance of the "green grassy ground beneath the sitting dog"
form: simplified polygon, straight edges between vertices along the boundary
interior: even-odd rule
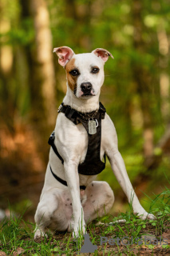
[[[140,220],[132,214],[132,206],[129,205],[125,214],[121,213],[115,218],[102,218],[101,222],[105,222],[105,225],[89,225],[87,232],[90,241],[97,245],[93,255],[170,254],[170,190],[165,188],[164,192],[155,195],[153,200],[148,200],[150,212],[156,215],[156,220]],[[122,218],[126,220],[125,223],[115,222]],[[34,223],[25,222],[23,216],[4,219],[0,226],[0,255],[3,255],[2,252],[4,255],[77,255],[84,244],[83,236],[74,239],[72,234],[67,232],[57,232],[54,236],[49,233],[48,238],[34,241],[34,227]],[[157,244],[140,244],[147,234],[148,238],[155,241],[157,239]],[[117,238],[120,241],[117,241]],[[163,239],[166,239],[165,242]]]

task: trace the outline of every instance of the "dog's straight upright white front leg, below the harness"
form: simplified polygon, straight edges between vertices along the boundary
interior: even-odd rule
[[[77,163],[69,161],[64,163],[65,178],[69,186],[73,206],[73,237],[77,237],[79,232],[85,234],[84,212],[81,206],[79,176],[77,172]],[[73,225],[73,226],[72,226]]]

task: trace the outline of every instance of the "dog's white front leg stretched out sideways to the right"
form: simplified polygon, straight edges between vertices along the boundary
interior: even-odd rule
[[[138,198],[136,197],[135,191],[132,188],[132,184],[128,178],[128,174],[125,168],[125,162],[121,157],[118,150],[110,150],[108,153],[109,161],[111,163],[113,173],[115,174],[117,181],[120,183],[121,188],[124,190],[128,202],[132,203],[132,210],[137,213],[140,218],[155,218],[153,214],[148,214],[144,208],[140,205]]]

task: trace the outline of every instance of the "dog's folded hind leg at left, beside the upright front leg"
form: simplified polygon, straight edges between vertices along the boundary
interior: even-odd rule
[[[66,200],[70,200],[67,201]],[[67,206],[68,205],[68,206]],[[34,239],[46,236],[46,231],[53,234],[55,230],[65,231],[72,216],[71,198],[69,192],[49,190],[42,196],[35,214],[37,224]]]

